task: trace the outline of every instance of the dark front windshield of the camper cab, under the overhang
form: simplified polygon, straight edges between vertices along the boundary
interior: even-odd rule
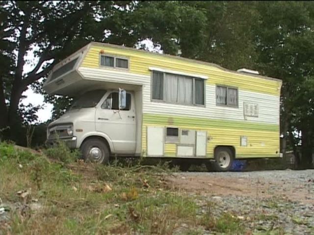
[[[106,93],[105,90],[95,90],[86,92],[77,97],[77,99],[71,106],[70,110],[95,107],[105,93]]]

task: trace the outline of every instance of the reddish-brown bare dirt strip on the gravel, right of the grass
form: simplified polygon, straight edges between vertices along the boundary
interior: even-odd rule
[[[217,177],[207,173],[197,175],[179,173],[167,177],[167,181],[169,186],[175,190],[196,194],[258,196],[259,198],[279,196],[290,200],[314,203],[314,199],[309,197],[306,185],[293,185],[288,182],[273,182],[265,179],[233,178],[227,174],[226,177]]]

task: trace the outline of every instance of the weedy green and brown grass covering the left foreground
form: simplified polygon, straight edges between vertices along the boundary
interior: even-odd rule
[[[195,197],[169,187],[165,178],[177,169],[167,163],[98,165],[77,157],[64,145],[37,154],[0,143],[0,199],[12,207],[0,234],[246,233],[235,214],[213,213],[219,202],[209,198],[204,211]],[[20,190],[29,190],[29,196],[22,198]],[[278,207],[275,201],[269,206]],[[271,234],[282,234],[277,232]]]

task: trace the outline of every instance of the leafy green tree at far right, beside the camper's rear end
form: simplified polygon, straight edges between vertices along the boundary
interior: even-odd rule
[[[299,156],[299,140],[293,133],[301,133],[302,163],[309,167],[314,146],[314,3],[259,2],[258,11],[258,67],[264,74],[283,79],[281,131],[295,145],[295,156]]]

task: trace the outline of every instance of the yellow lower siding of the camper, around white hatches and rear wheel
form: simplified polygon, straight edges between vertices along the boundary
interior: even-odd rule
[[[143,132],[142,132],[142,149],[144,151],[144,156],[146,156],[146,128],[149,125],[153,126],[168,126],[167,116],[154,115],[154,123],[152,122],[153,115],[144,114],[143,115]],[[195,120],[191,121],[191,118],[180,117],[180,122],[176,119],[173,120],[172,126],[183,129],[193,129],[193,130],[203,130],[207,131],[207,135],[210,140],[207,144],[207,157],[212,158],[214,148],[217,145],[231,145],[235,147],[237,158],[247,158],[247,157],[279,157],[279,129],[275,127],[270,129],[266,125],[265,128],[242,128],[239,129],[235,125],[226,128],[224,122],[221,121],[221,126],[217,123],[212,125],[195,126]],[[201,118],[200,118],[201,119]],[[210,120],[208,121],[210,122]],[[261,124],[260,124],[261,125]],[[275,125],[274,125],[275,126]],[[240,146],[240,137],[247,137],[247,146]],[[277,152],[277,153],[276,153]],[[165,144],[165,156],[173,157],[176,155],[176,145],[175,144]]]

